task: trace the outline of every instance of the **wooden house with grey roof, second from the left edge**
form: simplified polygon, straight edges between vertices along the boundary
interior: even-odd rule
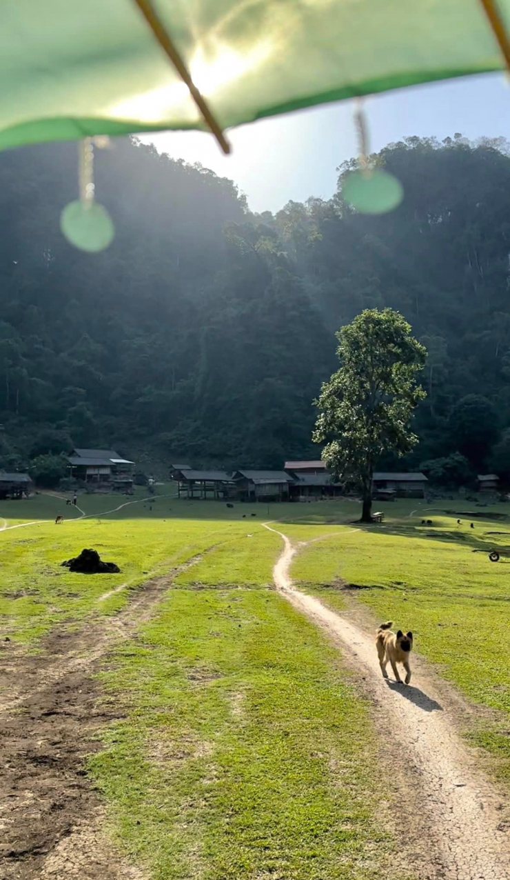
[[[131,492],[134,461],[113,449],[74,449],[68,458],[71,479],[94,488]]]

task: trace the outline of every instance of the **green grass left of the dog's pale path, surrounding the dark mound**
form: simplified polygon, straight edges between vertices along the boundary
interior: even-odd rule
[[[31,650],[55,625],[86,622],[93,641],[96,615],[201,554],[101,676],[106,705],[124,716],[89,761],[113,837],[151,880],[380,876],[392,842],[368,707],[338,653],[273,590],[281,539],[261,527],[267,510],[158,497],[101,514],[124,502],[80,496],[95,516],[72,520],[46,495],[0,504],[9,525],[35,521],[0,533],[1,632]],[[307,512],[320,523],[320,505]],[[84,546],[121,574],[60,567]]]

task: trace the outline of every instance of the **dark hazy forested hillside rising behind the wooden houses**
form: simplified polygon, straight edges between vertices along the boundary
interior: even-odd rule
[[[59,231],[76,144],[4,152],[0,464],[73,444],[196,466],[317,455],[334,333],[390,305],[428,351],[401,467],[510,471],[510,147],[408,138],[375,161],[404,184],[390,215],[342,201],[353,163],[329,201],[253,215],[230,180],[119,141],[96,160],[116,238],[88,255]]]

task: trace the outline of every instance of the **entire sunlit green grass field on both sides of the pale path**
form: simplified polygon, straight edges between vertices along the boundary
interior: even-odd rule
[[[349,501],[267,515],[171,495],[80,496],[86,518],[48,495],[0,502],[0,635],[27,649],[52,627],[93,627],[149,576],[182,567],[149,623],[108,658],[105,700],[124,717],[89,763],[111,832],[150,880],[368,880],[393,846],[368,708],[338,653],[273,590],[281,539],[266,520],[303,542],[292,568],[302,589],[342,609],[342,585],[355,584],[375,619],[412,628],[442,675],[499,711],[467,733],[510,781],[510,557],[487,557],[510,546],[509,507],[378,503],[384,524],[360,527]],[[458,525],[455,511],[470,507],[478,516]],[[84,546],[121,574],[61,568]]]

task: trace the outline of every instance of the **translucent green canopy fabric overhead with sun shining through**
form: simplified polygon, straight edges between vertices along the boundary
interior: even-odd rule
[[[498,40],[497,25],[510,24],[510,0],[493,3],[155,0],[151,8],[224,129],[326,101],[502,70],[505,36]],[[208,128],[148,20],[148,5],[5,0],[0,148]]]

